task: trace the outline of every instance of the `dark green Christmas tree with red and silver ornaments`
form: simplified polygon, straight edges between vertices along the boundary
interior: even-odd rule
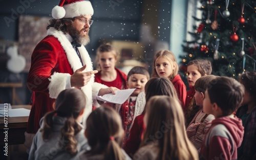
[[[193,26],[192,41],[185,41],[180,74],[186,82],[186,65],[194,59],[212,63],[212,74],[237,78],[255,70],[256,1],[201,0],[202,18]]]

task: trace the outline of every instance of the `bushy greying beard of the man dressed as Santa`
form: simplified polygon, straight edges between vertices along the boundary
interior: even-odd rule
[[[76,28],[74,28],[73,25],[67,26],[69,35],[79,44],[87,45],[90,43],[90,37],[89,37],[89,30],[87,32],[87,35],[82,35],[81,31],[78,31]]]

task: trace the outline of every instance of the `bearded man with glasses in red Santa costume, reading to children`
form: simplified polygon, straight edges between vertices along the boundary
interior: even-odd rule
[[[35,47],[27,86],[33,91],[33,104],[25,132],[25,146],[30,148],[40,119],[53,109],[58,94],[67,88],[79,88],[87,103],[83,123],[92,111],[96,95],[115,93],[117,88],[94,83],[91,58],[84,47],[90,42],[89,30],[93,20],[93,7],[89,1],[61,0],[52,9],[47,26],[47,37]]]

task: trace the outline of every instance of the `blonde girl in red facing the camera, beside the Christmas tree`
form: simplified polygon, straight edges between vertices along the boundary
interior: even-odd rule
[[[185,84],[178,74],[179,68],[173,52],[169,50],[157,52],[154,56],[153,66],[152,77],[168,77],[177,90],[181,106],[184,108],[187,91]]]

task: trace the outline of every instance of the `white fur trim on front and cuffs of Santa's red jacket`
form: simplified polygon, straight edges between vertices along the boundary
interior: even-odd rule
[[[54,28],[50,28],[47,31],[47,35],[52,35],[58,39],[61,46],[63,47],[63,49],[66,52],[68,62],[70,64],[73,72],[75,72],[77,69],[82,67],[82,64],[81,64],[78,56],[74,56],[74,55],[76,55],[75,49],[72,47],[70,41],[67,39],[65,34],[63,34],[63,32],[57,31]],[[86,48],[82,45],[81,47],[78,47],[78,50],[80,52],[83,64],[87,66],[86,69],[83,70],[83,72],[92,71],[93,70],[92,61],[91,61],[91,58],[90,58]],[[51,82],[49,84],[49,92],[54,93],[56,96],[62,90],[65,90],[66,79],[64,78],[65,76],[62,74],[67,74],[67,73],[58,73],[56,76],[54,76],[55,74],[53,74],[51,76]],[[68,74],[68,75],[70,75],[70,74]],[[63,82],[65,82],[65,84],[63,84],[63,85],[60,85],[60,84],[56,85],[56,83],[53,84],[53,82],[60,81],[59,77],[63,78]],[[53,87],[54,85],[56,85],[56,86]],[[50,86],[51,86],[51,88],[50,88]],[[60,88],[60,89],[58,89],[58,88]],[[88,82],[88,84],[86,86],[81,87],[82,92],[86,95],[86,98],[87,98],[86,110],[83,115],[83,122],[87,119],[89,114],[92,112],[92,103],[93,103],[92,98],[93,97],[96,98],[96,95],[98,94],[100,88],[108,88],[108,87],[105,85],[102,85],[102,84],[98,84],[98,83],[94,84],[94,76],[92,76],[92,78],[90,79],[90,82]]]

